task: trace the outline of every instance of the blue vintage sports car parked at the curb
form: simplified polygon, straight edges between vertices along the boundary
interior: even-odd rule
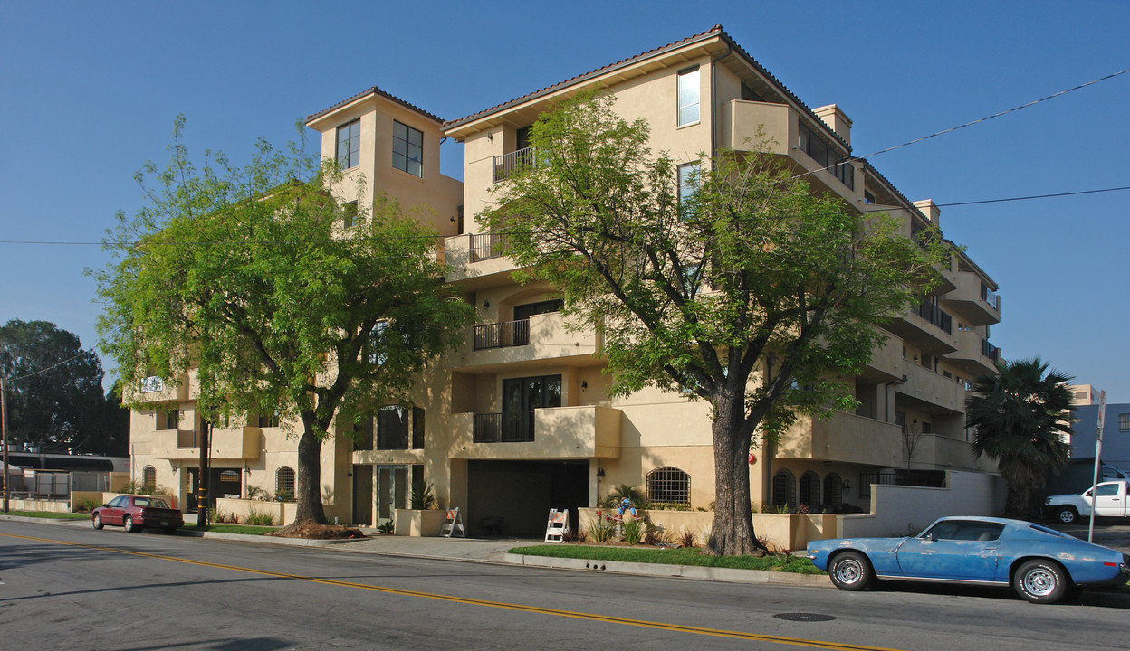
[[[875,579],[1011,583],[1033,604],[1130,579],[1130,556],[1122,552],[1005,518],[941,518],[905,538],[811,540],[808,557],[841,590],[862,590]]]

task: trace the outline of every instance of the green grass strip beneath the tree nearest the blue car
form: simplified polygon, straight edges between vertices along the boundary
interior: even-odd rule
[[[511,554],[550,556],[554,558],[582,558],[586,561],[619,561],[624,563],[663,563],[668,565],[698,565],[703,568],[732,568],[791,572],[794,574],[824,574],[808,558],[786,554],[767,556],[710,556],[696,547],[616,547],[596,545],[532,545],[514,547]]]

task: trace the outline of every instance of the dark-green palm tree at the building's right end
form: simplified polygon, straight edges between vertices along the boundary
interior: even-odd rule
[[[966,426],[976,428],[973,454],[997,459],[1008,484],[1006,517],[1032,512],[1032,493],[1043,487],[1050,472],[1068,461],[1071,447],[1071,376],[1048,370],[1040,358],[997,362],[996,375],[973,384],[965,401]]]

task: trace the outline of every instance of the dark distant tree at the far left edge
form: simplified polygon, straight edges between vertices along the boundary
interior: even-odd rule
[[[103,394],[102,362],[78,336],[44,320],[12,319],[0,327],[0,364],[8,378],[8,425],[14,443],[43,450],[119,452],[107,439],[128,434]]]

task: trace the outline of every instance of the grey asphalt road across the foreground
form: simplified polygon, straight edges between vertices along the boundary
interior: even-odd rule
[[[858,593],[0,521],[3,649],[1123,649],[1130,600]],[[930,590],[937,590],[931,587]]]

